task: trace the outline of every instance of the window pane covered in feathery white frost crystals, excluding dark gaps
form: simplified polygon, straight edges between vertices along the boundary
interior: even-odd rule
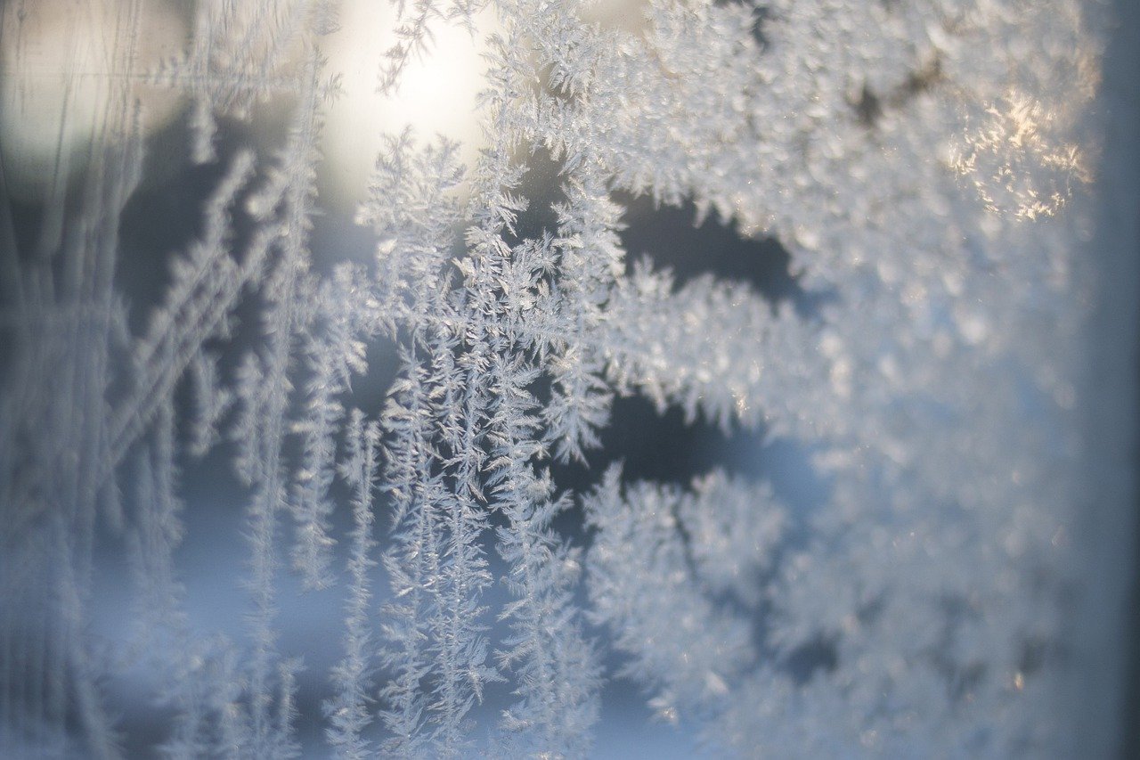
[[[0,754],[586,757],[622,688],[715,755],[1072,752],[1108,25],[1044,5],[6,3]],[[456,29],[481,138],[397,99]],[[627,251],[641,196],[812,298]],[[628,396],[819,503],[624,468]]]

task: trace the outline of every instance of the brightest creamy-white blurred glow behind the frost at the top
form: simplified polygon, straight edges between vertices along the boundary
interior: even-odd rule
[[[486,146],[475,98],[487,81],[484,40],[498,29],[492,14],[483,10],[475,17],[474,34],[433,19],[429,49],[412,54],[399,89],[385,96],[376,87],[397,23],[394,8],[383,0],[349,0],[340,13],[340,30],[323,40],[327,71],[341,75],[341,94],[325,121],[321,195],[344,210],[365,199],[384,135],[398,135],[407,126],[421,139],[443,135],[462,143],[459,155],[469,167]]]

